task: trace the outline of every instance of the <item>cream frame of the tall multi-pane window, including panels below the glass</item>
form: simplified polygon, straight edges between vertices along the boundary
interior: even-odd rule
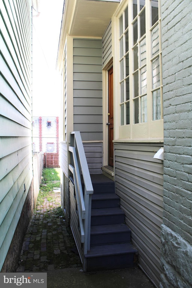
[[[158,25],[159,25],[159,31],[161,32],[161,11],[160,11],[160,0],[158,1],[159,5],[159,19],[158,19]],[[138,124],[134,124],[134,97],[133,97],[133,42],[131,44],[131,40],[133,37],[132,32],[132,24],[134,22],[133,16],[132,16],[132,1],[124,0],[119,5],[119,8],[117,12],[115,13],[114,17],[112,18],[112,27],[113,27],[113,45],[114,45],[114,95],[115,95],[115,103],[114,103],[114,109],[115,109],[115,116],[116,116],[116,124],[115,124],[115,141],[120,142],[163,142],[163,101],[162,101],[162,68],[160,68],[161,73],[161,82],[160,82],[160,91],[161,91],[161,119],[159,120],[153,120],[153,113],[152,113],[152,92],[155,91],[156,88],[152,89],[152,48],[151,48],[151,31],[152,29],[157,25],[155,23],[152,27],[150,26],[150,4],[151,0],[146,0],[145,4],[145,13],[146,13],[146,65],[147,65],[147,122],[141,122],[139,121]],[[122,15],[122,13],[125,11],[126,7],[128,6],[128,31],[129,31],[129,82],[130,82],[130,124],[128,125],[121,125],[121,113],[120,113],[120,45],[119,45],[119,18]],[[140,10],[140,13],[142,13],[144,8]],[[138,23],[139,27],[139,23]],[[159,32],[159,33],[160,33]],[[142,41],[144,36],[137,41],[139,43]],[[161,39],[161,33],[160,33],[160,39]],[[149,51],[149,52],[148,52]],[[160,49],[159,49],[159,57],[161,61],[161,41],[160,41]],[[154,57],[156,58],[156,56]],[[143,67],[143,66],[140,66]],[[139,67],[139,68],[140,68]],[[161,66],[162,67],[162,66]],[[132,71],[132,72],[131,72]],[[141,97],[142,95],[139,95]]]

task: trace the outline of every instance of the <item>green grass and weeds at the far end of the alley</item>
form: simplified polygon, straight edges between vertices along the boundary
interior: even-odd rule
[[[37,206],[43,205],[44,199],[52,202],[53,189],[60,187],[60,169],[59,168],[44,168],[42,173],[42,181],[40,184],[39,195],[37,199]]]

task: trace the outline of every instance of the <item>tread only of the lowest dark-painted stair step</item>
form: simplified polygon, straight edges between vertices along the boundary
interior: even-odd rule
[[[92,246],[90,251],[85,255],[86,258],[89,257],[99,257],[106,255],[115,254],[125,254],[125,253],[135,253],[136,250],[133,248],[131,243],[120,243],[120,244],[107,244],[100,246]]]

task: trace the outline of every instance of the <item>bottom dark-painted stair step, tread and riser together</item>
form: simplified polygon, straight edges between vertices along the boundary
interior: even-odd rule
[[[135,252],[131,243],[91,247],[91,250],[85,255],[87,271],[132,267]]]

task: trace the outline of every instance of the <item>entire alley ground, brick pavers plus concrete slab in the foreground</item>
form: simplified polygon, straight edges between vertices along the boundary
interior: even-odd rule
[[[53,184],[58,186],[58,182]],[[42,195],[25,235],[16,272],[46,272],[47,288],[154,288],[137,266],[83,272],[72,232],[65,225],[60,188]]]

